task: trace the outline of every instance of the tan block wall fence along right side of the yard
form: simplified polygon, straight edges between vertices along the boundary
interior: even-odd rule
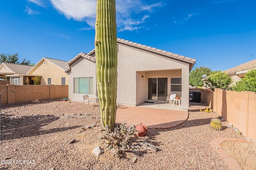
[[[256,94],[255,92],[234,92],[216,88],[214,92],[206,89],[200,91],[201,101],[238,128],[244,137],[256,143]]]

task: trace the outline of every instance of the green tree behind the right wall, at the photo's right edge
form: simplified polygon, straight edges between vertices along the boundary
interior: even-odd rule
[[[235,86],[232,86],[232,90],[236,92],[256,92],[256,69],[249,70],[242,80],[236,82]]]

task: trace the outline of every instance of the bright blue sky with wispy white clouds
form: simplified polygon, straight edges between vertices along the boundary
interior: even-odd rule
[[[96,0],[0,0],[0,53],[70,61],[94,49]],[[255,0],[116,0],[117,37],[226,70],[256,59]]]

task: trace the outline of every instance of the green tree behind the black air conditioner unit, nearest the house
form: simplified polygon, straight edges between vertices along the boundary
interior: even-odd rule
[[[189,74],[189,84],[193,87],[196,86],[204,86],[204,82],[201,80],[202,75],[210,75],[212,73],[212,70],[208,67],[201,66],[196,67],[194,70],[192,70]]]

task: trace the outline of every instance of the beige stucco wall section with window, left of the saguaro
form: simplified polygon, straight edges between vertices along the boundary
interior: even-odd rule
[[[74,63],[71,64],[71,70],[69,74],[68,82],[68,98],[72,101],[83,101],[83,94],[74,94],[74,78],[81,77],[93,77],[93,91],[96,94],[96,65],[92,61],[80,57]]]

